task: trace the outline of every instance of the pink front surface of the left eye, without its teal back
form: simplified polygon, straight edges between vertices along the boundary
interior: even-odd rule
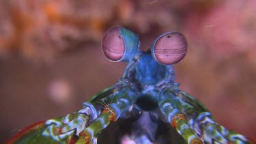
[[[120,61],[124,56],[125,44],[119,28],[113,27],[106,31],[102,40],[103,53],[111,61]]]

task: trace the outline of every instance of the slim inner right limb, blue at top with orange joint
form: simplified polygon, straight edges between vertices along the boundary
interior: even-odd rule
[[[176,108],[175,104],[171,101],[171,95],[164,93],[158,100],[158,105],[165,115],[166,120],[171,123],[171,126],[177,130],[177,132],[188,143],[203,143],[193,132],[193,130],[186,124],[186,115]]]

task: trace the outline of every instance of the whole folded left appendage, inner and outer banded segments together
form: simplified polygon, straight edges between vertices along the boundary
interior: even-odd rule
[[[106,106],[102,100],[110,103]],[[110,122],[116,121],[135,100],[135,94],[128,86],[120,88],[119,91],[114,88],[105,89],[89,102],[85,102],[79,111],[46,121],[42,136],[63,143],[70,143],[72,139],[78,138],[76,143],[96,143],[98,132],[106,128]]]

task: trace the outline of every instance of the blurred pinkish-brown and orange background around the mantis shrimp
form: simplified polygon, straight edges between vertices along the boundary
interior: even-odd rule
[[[177,83],[218,123],[255,140],[255,8],[254,0],[1,0],[0,143],[117,83],[126,63],[111,63],[100,46],[117,25],[137,33],[143,50],[161,33],[184,33]]]

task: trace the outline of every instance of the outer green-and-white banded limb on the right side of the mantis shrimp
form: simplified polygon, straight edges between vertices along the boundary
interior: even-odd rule
[[[172,91],[167,93],[177,109],[186,115],[188,126],[204,143],[251,143],[245,136],[231,132],[216,123],[208,109],[188,93],[184,91],[180,91],[179,94]]]

